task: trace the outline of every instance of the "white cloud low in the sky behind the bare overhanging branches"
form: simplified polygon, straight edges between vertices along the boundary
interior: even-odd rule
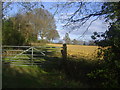
[[[69,32],[71,30],[71,28],[69,29],[63,29],[62,26],[64,26],[66,24],[66,22],[61,23],[60,21],[58,21],[58,19],[66,19],[69,17],[69,15],[73,14],[72,12],[70,13],[61,13],[61,15],[55,16],[55,20],[56,20],[56,26],[57,26],[57,30],[60,34],[61,39],[65,36],[66,32]],[[80,37],[86,30],[86,28],[88,27],[88,25],[90,24],[90,22],[92,20],[94,20],[96,17],[91,18],[90,20],[88,20],[83,26],[77,28],[77,30],[72,29],[73,31],[70,33],[70,38],[74,39],[74,38],[78,38]],[[103,23],[104,19],[98,19],[96,21],[94,21],[91,26],[89,27],[89,30],[85,33],[85,37],[84,39],[91,39],[91,35],[93,34],[93,32],[105,32],[107,30],[107,26],[108,24]],[[77,23],[76,25],[80,25],[80,23]]]

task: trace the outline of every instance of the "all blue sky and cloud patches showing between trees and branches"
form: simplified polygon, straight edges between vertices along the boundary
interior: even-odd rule
[[[55,13],[55,6],[56,3],[58,2],[42,2],[42,4],[44,5],[44,9],[47,9],[50,13],[54,14]],[[60,2],[61,3],[61,2]],[[64,3],[64,2],[63,2]],[[95,6],[95,4],[93,4]],[[12,16],[19,11],[20,5],[12,5],[13,9],[9,8],[9,12],[7,13],[8,16]],[[52,9],[50,9],[52,7]],[[87,6],[88,8],[90,8],[90,6]],[[100,9],[100,6],[95,6],[98,10]],[[59,35],[60,35],[60,39],[63,39],[63,37],[65,36],[65,34],[67,32],[70,31],[69,28],[63,28],[63,25],[65,25],[65,21],[61,22],[59,19],[65,19],[68,18],[68,16],[66,14],[72,14],[73,12],[75,12],[76,7],[69,8],[69,11],[67,11],[68,9],[63,8],[61,10],[61,12],[55,14],[54,18],[56,21],[56,30],[58,31]],[[62,15],[62,16],[61,16]],[[80,16],[79,16],[80,17]],[[91,35],[93,34],[93,32],[97,31],[97,32],[105,32],[107,30],[108,24],[104,22],[104,19],[98,19],[96,21],[94,21],[91,26],[89,27],[89,30],[85,33],[84,37],[80,37],[84,31],[86,30],[87,26],[89,25],[90,21],[93,20],[94,18],[91,18],[90,20],[88,20],[83,26],[81,26],[80,28],[74,29],[72,32],[69,33],[70,38],[73,39],[77,39],[77,40],[83,40],[83,41],[89,41],[92,40],[91,39]],[[79,25],[79,23],[78,23]]]

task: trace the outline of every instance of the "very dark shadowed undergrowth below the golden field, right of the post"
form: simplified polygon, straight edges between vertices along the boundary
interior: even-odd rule
[[[68,58],[65,62],[64,73],[69,80],[80,81],[83,85],[90,88],[98,88],[101,87],[101,80],[89,78],[88,74],[100,67],[101,65],[95,60]]]

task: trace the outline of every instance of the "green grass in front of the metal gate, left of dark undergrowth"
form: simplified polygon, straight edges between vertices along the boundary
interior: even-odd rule
[[[78,82],[67,80],[64,73],[59,71],[45,71],[39,66],[3,67],[3,88],[62,88],[78,86]]]

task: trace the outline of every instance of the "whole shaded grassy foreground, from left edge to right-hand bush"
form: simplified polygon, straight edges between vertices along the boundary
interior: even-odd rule
[[[42,57],[40,65],[3,65],[3,88],[91,88],[99,82],[87,74],[97,64],[85,59],[68,58],[63,64],[60,57]]]

